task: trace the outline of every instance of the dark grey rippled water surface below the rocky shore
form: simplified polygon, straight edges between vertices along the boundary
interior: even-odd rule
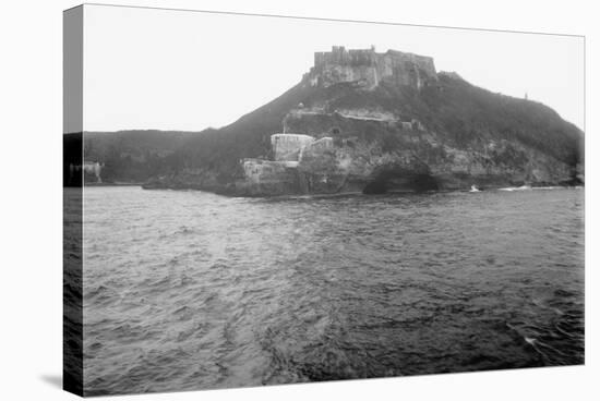
[[[86,187],[86,393],[580,364],[583,209]]]

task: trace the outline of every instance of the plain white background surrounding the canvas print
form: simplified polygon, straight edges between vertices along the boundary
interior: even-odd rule
[[[588,1],[120,1],[241,11],[587,35],[587,365],[122,397],[119,400],[590,400],[600,377],[597,13]],[[67,0],[0,4],[0,399],[69,400],[61,375],[61,11]],[[243,35],[243,33],[237,33]],[[468,75],[465,73],[465,75]],[[278,90],[278,88],[277,88]],[[23,157],[26,151],[26,157]],[[595,210],[596,209],[596,210]]]

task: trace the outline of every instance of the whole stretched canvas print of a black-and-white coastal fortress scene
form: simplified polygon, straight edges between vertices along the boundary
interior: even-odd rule
[[[64,388],[583,364],[584,51],[65,11]]]

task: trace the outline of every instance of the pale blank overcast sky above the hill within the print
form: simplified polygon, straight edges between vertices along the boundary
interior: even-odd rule
[[[431,56],[437,71],[527,93],[584,127],[580,37],[85,5],[84,130],[227,125],[296,85],[333,45]]]

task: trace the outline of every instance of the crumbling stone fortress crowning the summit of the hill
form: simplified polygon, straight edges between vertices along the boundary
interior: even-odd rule
[[[311,86],[323,87],[353,82],[373,89],[386,81],[420,89],[436,82],[437,74],[431,57],[396,50],[377,53],[374,48],[347,50],[344,46],[334,46],[332,51],[314,53],[314,66],[304,80]]]

